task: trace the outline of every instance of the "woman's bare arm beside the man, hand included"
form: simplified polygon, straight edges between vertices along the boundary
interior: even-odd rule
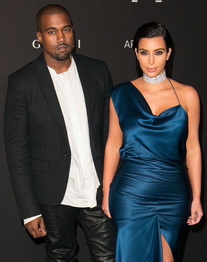
[[[103,202],[104,213],[111,218],[109,212],[109,186],[113,180],[119,164],[119,148],[122,145],[123,134],[119,126],[117,113],[113,102],[109,102],[109,136],[106,142],[104,154],[104,176],[103,176]]]

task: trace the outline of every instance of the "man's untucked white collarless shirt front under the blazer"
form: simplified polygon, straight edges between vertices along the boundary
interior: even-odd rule
[[[100,183],[90,149],[88,119],[82,85],[75,61],[67,72],[57,74],[48,67],[67,129],[71,149],[69,179],[61,204],[95,207]]]

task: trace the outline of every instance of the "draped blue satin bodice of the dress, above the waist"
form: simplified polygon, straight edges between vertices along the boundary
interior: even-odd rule
[[[123,142],[120,157],[161,166],[180,166],[186,161],[188,116],[175,105],[153,115],[142,93],[131,83],[117,85],[111,99],[118,115]]]

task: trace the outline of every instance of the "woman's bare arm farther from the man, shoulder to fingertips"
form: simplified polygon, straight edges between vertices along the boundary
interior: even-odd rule
[[[191,216],[187,220],[188,225],[197,224],[203,216],[203,210],[200,203],[201,191],[201,152],[198,138],[198,128],[200,121],[200,103],[196,90],[188,87],[186,92],[186,106],[188,114],[188,138],[186,142],[187,155],[186,165],[190,177],[190,183],[193,192],[193,201],[191,204]]]

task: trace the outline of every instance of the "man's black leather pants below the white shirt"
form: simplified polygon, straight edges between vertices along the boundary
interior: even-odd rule
[[[91,209],[40,204],[47,231],[46,262],[77,261],[77,222],[85,233],[92,261],[115,261],[116,229],[101,209],[100,202]]]

